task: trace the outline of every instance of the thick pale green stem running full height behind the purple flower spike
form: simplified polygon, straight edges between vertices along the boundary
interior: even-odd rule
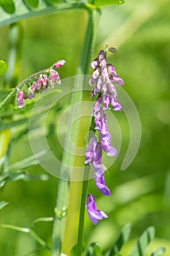
[[[85,31],[85,39],[82,45],[81,56],[80,56],[80,64],[77,67],[77,77],[74,80],[74,89],[73,91],[76,93],[72,94],[72,113],[69,115],[68,121],[68,130],[74,121],[74,117],[77,116],[77,111],[81,111],[77,109],[77,102],[82,102],[84,97],[83,86],[84,86],[84,77],[81,75],[85,75],[88,72],[88,67],[90,63],[90,56],[93,50],[94,45],[94,36],[96,34],[96,25],[98,18],[98,10],[88,10],[89,20],[88,26]],[[80,132],[80,125],[77,126],[77,129],[73,129],[72,132],[72,140],[77,144],[77,140],[79,138],[78,134]],[[72,145],[69,142],[69,132],[66,134],[65,145],[67,151],[69,152],[69,148]],[[58,196],[56,200],[55,212],[57,211],[61,217],[58,217],[58,214],[55,214],[54,223],[53,223],[53,241],[52,241],[52,251],[51,256],[60,256],[61,255],[61,246],[63,244],[63,234],[66,227],[66,214],[62,216],[63,209],[67,209],[69,206],[69,182],[72,177],[70,177],[69,173],[74,173],[74,163],[75,156],[74,154],[69,154],[66,151],[63,151],[63,159],[61,164],[61,173],[62,179],[59,181],[58,185]],[[69,172],[66,168],[66,165],[69,165]],[[72,171],[70,172],[70,167],[72,167]],[[64,176],[63,176],[64,175]],[[74,174],[73,174],[74,175]],[[84,214],[82,214],[84,217]],[[81,222],[82,223],[82,222]],[[79,255],[80,256],[80,255]]]

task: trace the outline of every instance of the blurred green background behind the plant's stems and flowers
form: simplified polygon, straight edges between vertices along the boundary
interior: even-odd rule
[[[59,72],[61,78],[76,74],[88,15],[84,10],[59,12],[23,20],[23,46],[18,81],[32,73],[65,59],[66,65]],[[170,166],[169,166],[169,80],[170,80],[170,3],[169,1],[125,1],[120,6],[104,7],[98,24],[96,46],[92,60],[108,42],[117,48],[115,55],[108,56],[117,74],[125,81],[124,89],[133,99],[142,125],[142,138],[134,162],[124,171],[121,163],[129,143],[129,126],[124,113],[115,113],[123,137],[120,154],[105,175],[111,197],[101,195],[90,181],[89,191],[96,197],[98,208],[109,219],[93,226],[85,216],[85,241],[98,241],[105,251],[115,240],[120,228],[131,222],[131,241],[123,247],[127,255],[131,244],[146,227],[154,225],[156,238],[151,247],[166,246],[170,255]],[[9,26],[0,28],[0,59],[7,61]],[[91,73],[89,69],[89,73]],[[1,88],[3,79],[1,78]],[[12,87],[15,87],[13,85]],[[63,102],[63,108],[68,102]],[[29,116],[31,110],[26,113]],[[14,115],[17,120],[20,116]],[[58,113],[55,113],[58,115]],[[53,118],[53,115],[52,115]],[[58,117],[56,116],[56,122]],[[55,121],[49,121],[55,127]],[[26,129],[28,124],[12,129],[12,136]],[[55,129],[55,128],[54,128]],[[113,129],[112,126],[109,129]],[[49,128],[50,130],[50,128]],[[53,148],[55,132],[49,132]],[[113,138],[113,141],[116,138]],[[57,151],[57,148],[56,148]],[[32,155],[28,135],[12,144],[10,163]],[[34,219],[53,217],[58,180],[46,173],[39,165],[29,167],[29,173],[46,174],[47,181],[9,182],[1,189],[1,200],[9,205],[1,210],[1,224],[30,227]],[[76,186],[76,185],[75,185]],[[77,186],[78,187],[78,186]],[[78,189],[78,188],[77,188]],[[77,239],[77,217],[80,195],[75,192],[74,214],[69,222],[64,252]],[[48,244],[51,242],[52,222],[39,222],[36,232]],[[28,234],[1,229],[2,256],[47,256],[50,252],[38,250]]]

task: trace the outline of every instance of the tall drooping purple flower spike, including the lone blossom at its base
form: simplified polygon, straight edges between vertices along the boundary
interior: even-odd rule
[[[108,187],[104,182],[104,170],[101,165],[102,150],[106,152],[109,157],[115,157],[117,150],[110,144],[111,135],[107,129],[107,116],[104,110],[122,110],[120,104],[117,102],[117,92],[115,83],[123,86],[123,80],[118,77],[115,68],[112,64],[107,64],[107,59],[104,50],[101,50],[98,57],[92,61],[91,67],[94,69],[93,74],[89,80],[90,86],[95,85],[91,92],[91,97],[96,97],[93,105],[93,117],[95,121],[95,130],[98,131],[98,140],[94,135],[90,138],[86,152],[85,164],[93,166],[93,178],[96,187],[104,195],[111,195]],[[98,219],[107,218],[103,211],[96,209],[96,204],[93,195],[88,195],[86,207],[90,220],[96,225]]]

